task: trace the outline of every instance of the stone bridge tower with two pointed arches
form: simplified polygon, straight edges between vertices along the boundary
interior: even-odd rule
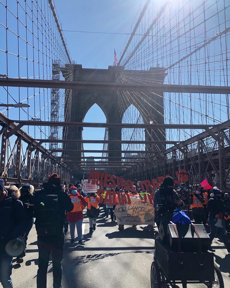
[[[124,70],[122,66],[109,66],[108,69],[91,69],[91,68],[82,68],[80,64],[73,64],[74,72],[73,72],[73,81],[96,81],[96,82],[117,82],[117,76],[122,73],[140,73],[140,71],[128,71]],[[68,75],[66,71],[68,67],[61,68],[63,72],[63,76]],[[141,71],[141,78],[148,79],[148,81],[152,81],[153,83],[163,83],[166,74],[164,73],[163,68],[150,68],[148,71]],[[69,78],[69,77],[68,77]],[[65,77],[65,80],[69,80]],[[133,92],[129,92],[133,93]],[[140,111],[144,122],[148,123],[148,119],[146,119],[146,115],[143,115],[143,111],[149,110],[149,98],[153,99],[152,103],[155,103],[154,109],[152,109],[152,114],[154,114],[154,119],[156,123],[163,124],[164,123],[164,101],[163,101],[163,93],[146,93],[146,96],[140,97],[138,102],[140,103],[140,107],[137,107],[136,103],[132,103],[136,108]],[[68,95],[68,94],[67,94]],[[143,97],[146,99],[143,100]],[[120,116],[119,107],[118,107],[118,94],[117,91],[92,91],[92,90],[77,90],[73,89],[71,99],[65,99],[65,114],[70,112],[70,122],[83,122],[84,117],[90,107],[96,103],[102,109],[106,116],[107,123],[121,123],[122,117]],[[71,111],[67,111],[67,103],[71,101]],[[124,107],[122,107],[122,116],[125,110],[130,105],[124,101]],[[121,109],[121,108],[120,108]],[[149,111],[150,112],[150,111]],[[94,115],[95,120],[98,115]],[[66,133],[67,139],[73,140],[82,140],[82,127],[68,127]],[[149,132],[149,133],[148,133]],[[145,130],[145,139],[151,140],[150,131]],[[104,135],[101,135],[100,138],[103,138]],[[113,127],[108,129],[108,140],[121,140],[121,126]],[[163,129],[156,129],[154,136],[154,140],[165,140],[165,133]],[[159,150],[164,149],[164,145],[158,145]],[[77,157],[76,160],[80,161],[81,153],[75,152],[75,150],[81,150],[82,144],[79,142],[67,142],[65,147],[66,150],[71,150],[71,152],[64,153],[69,157],[74,156]],[[146,146],[146,151],[149,148]],[[121,143],[109,143],[108,144],[108,160],[109,161],[119,161],[121,160]]]

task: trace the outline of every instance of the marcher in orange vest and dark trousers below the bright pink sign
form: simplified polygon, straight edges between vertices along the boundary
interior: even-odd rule
[[[203,204],[205,198],[203,196],[203,188],[197,187],[196,191],[190,195],[189,204],[191,205],[195,224],[202,224],[205,217],[205,209]]]

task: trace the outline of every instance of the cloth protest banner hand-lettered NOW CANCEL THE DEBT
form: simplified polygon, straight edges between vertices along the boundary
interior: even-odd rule
[[[150,201],[144,204],[142,200],[130,197],[131,204],[117,205],[114,212],[117,224],[154,225],[154,208]]]

